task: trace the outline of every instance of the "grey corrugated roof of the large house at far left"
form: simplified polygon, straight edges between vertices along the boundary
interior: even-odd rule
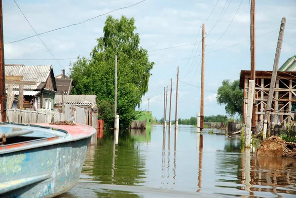
[[[51,68],[51,65],[5,65],[5,75],[23,76],[24,81],[36,81],[37,85],[24,85],[24,89],[37,89],[41,82],[46,82]],[[19,85],[13,85],[13,88],[18,89]]]

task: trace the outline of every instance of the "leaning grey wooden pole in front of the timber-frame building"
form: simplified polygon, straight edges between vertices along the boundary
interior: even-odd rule
[[[274,57],[274,62],[273,62],[273,70],[272,70],[270,88],[269,88],[267,104],[266,104],[266,110],[265,110],[265,115],[264,115],[263,138],[266,138],[266,134],[267,134],[267,122],[268,122],[268,118],[269,118],[269,114],[270,114],[270,110],[271,110],[271,103],[272,103],[274,86],[275,86],[275,82],[276,82],[277,71],[278,71],[278,66],[279,66],[279,60],[280,60],[280,55],[281,55],[285,25],[286,25],[286,18],[283,17],[282,21],[281,21],[281,27],[280,27],[280,32],[279,32],[278,43],[277,43],[276,51],[275,51],[275,57]]]

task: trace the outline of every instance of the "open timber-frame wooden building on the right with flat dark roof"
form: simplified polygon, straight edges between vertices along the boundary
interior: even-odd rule
[[[256,123],[263,123],[272,71],[256,71]],[[251,71],[241,71],[240,88],[244,89],[243,122],[246,123],[247,98]],[[278,71],[271,105],[271,123],[290,122],[296,113],[296,71]]]

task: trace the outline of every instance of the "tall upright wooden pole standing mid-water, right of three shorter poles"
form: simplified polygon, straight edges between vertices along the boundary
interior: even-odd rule
[[[204,122],[204,84],[205,84],[205,24],[202,24],[202,52],[201,52],[201,90],[200,90],[200,130]]]

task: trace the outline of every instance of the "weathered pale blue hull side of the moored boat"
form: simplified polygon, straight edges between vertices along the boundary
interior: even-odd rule
[[[52,198],[78,182],[91,137],[0,156],[0,198]],[[3,186],[2,186],[3,187]]]

